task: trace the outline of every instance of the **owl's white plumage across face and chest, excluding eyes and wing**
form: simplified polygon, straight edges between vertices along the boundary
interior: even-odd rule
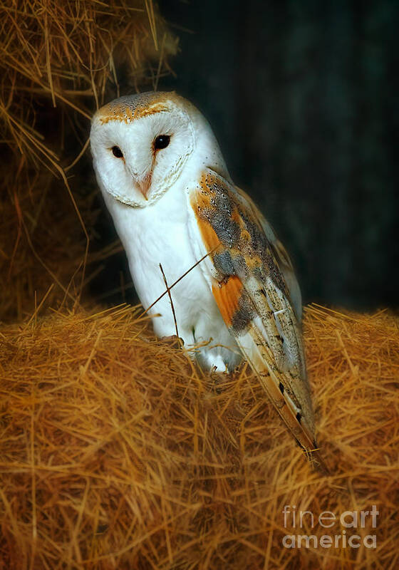
[[[167,283],[172,284],[204,254],[199,242],[192,244],[187,193],[205,163],[214,162],[228,177],[212,130],[202,115],[191,111],[190,121],[187,121],[187,111],[176,113],[175,105],[172,110],[173,113],[147,115],[132,123],[109,120],[101,124],[96,117],[91,133],[98,185],[123,243],[133,283],[145,309],[165,291],[160,264]],[[165,131],[172,135],[171,148],[158,153],[162,160],[157,160],[152,187],[145,201],[135,187],[135,173],[139,180],[148,168],[150,151],[143,147],[150,147],[155,136]],[[173,148],[172,141],[176,143]],[[113,145],[123,151],[125,165],[110,152]],[[196,353],[206,368],[217,367],[220,371],[225,371],[226,366],[234,368],[241,358],[237,343],[224,324],[200,267],[192,269],[172,288],[171,294],[177,330],[185,347],[202,345]],[[175,334],[167,295],[149,312],[154,316],[157,336]]]

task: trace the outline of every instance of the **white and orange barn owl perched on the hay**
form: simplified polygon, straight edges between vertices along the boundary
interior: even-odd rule
[[[232,371],[246,359],[317,464],[299,286],[273,229],[232,182],[207,120],[174,92],[129,95],[95,113],[90,145],[157,336],[177,328],[204,368]],[[172,303],[160,264],[168,284],[184,275]]]

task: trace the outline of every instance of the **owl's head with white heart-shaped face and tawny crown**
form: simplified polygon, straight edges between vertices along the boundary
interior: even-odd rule
[[[174,92],[128,95],[100,108],[90,145],[101,190],[132,207],[152,204],[197,169],[229,177],[209,124]]]

